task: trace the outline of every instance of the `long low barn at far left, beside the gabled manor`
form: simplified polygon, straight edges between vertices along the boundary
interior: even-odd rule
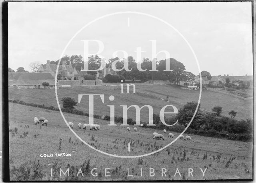
[[[54,78],[51,73],[8,73],[8,86],[24,89],[44,88],[43,82],[54,87]]]

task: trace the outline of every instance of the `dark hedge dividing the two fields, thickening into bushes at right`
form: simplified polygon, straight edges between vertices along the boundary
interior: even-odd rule
[[[44,106],[34,103],[27,103],[22,100],[11,100],[9,102],[18,103],[27,106],[34,106],[39,108],[44,108],[48,110],[56,110],[54,106]],[[194,114],[193,107],[196,106],[196,102],[188,102],[184,105],[184,108],[180,109],[180,112],[177,114],[175,118],[166,118],[165,121],[167,124],[174,124],[178,119],[178,124],[174,126],[165,126],[160,121],[159,114],[153,114],[153,121],[156,126],[147,126],[146,122],[140,122],[143,124],[145,128],[153,128],[163,130],[166,129],[172,132],[183,132],[185,127],[188,124],[188,121],[191,119],[191,115]],[[185,111],[185,112],[184,112]],[[87,112],[83,112],[81,110],[76,109],[68,109],[62,108],[62,112],[67,112],[71,114],[77,114],[82,116],[89,116]],[[186,115],[185,115],[186,114]],[[94,118],[99,119],[101,116],[98,114],[94,114]],[[110,121],[110,116],[105,115],[104,120]],[[115,116],[114,121],[116,123],[123,123],[122,116]],[[132,118],[127,119],[127,124],[134,125],[136,121]],[[228,117],[218,117],[212,113],[202,113],[200,111],[197,112],[193,122],[190,124],[190,127],[186,130],[188,134],[195,134],[200,136],[209,136],[209,137],[218,137],[218,138],[227,138],[230,140],[240,140],[244,142],[252,141],[252,120],[234,120]]]

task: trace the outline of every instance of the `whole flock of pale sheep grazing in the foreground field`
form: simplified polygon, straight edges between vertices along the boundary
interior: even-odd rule
[[[34,117],[34,124],[35,125],[37,125],[37,124],[39,124],[39,123],[42,123],[42,125],[43,126],[47,126],[47,124],[48,124],[48,120],[46,120],[45,118],[37,118],[37,117]],[[68,125],[70,126],[70,128],[74,128],[74,123],[72,123],[72,122],[68,122]],[[97,130],[100,130],[100,125],[98,125],[98,124],[84,124],[83,125],[83,129],[84,130],[86,130],[86,126],[90,126],[90,130],[95,130],[95,131],[97,131]],[[143,124],[141,124],[140,125],[141,127],[143,127]],[[81,129],[82,128],[82,124],[81,123],[78,123],[78,128],[79,129]],[[137,132],[137,128],[135,127],[134,128],[134,132]],[[126,131],[131,131],[131,129],[130,129],[130,127],[127,127],[126,128]],[[166,130],[164,129],[164,133],[166,134]],[[169,133],[168,134],[168,138],[173,138],[174,137],[174,134],[172,134],[172,133]],[[157,132],[154,132],[153,133],[153,139],[156,139],[156,140],[164,140],[164,136],[162,135],[162,134],[158,134]],[[184,137],[183,135],[182,136],[180,136],[180,139],[183,139],[183,140],[191,140],[191,137],[190,136],[186,136],[186,137]]]

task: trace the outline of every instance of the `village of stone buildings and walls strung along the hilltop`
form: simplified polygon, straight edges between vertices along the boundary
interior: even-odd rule
[[[46,64],[41,64],[35,73],[28,72],[9,72],[9,87],[18,87],[22,89],[41,89],[50,88],[54,89],[55,86],[55,75],[56,75],[57,64],[51,64],[50,60]],[[205,71],[206,72],[206,71]],[[78,85],[103,85],[102,80],[106,75],[118,75],[112,68],[107,65],[104,69],[97,71],[94,79],[86,79],[88,76],[87,71],[78,71],[72,67],[71,63],[67,64],[66,61],[59,65],[58,69],[58,87],[62,86],[78,86]],[[230,75],[218,75],[202,77],[203,87],[236,87],[240,89],[243,86],[250,86],[248,83],[252,83],[252,76],[230,76]],[[43,83],[48,83],[43,85]],[[128,81],[126,81],[128,82]],[[149,79],[148,81],[140,81],[140,79],[134,78],[129,82],[143,82],[145,84],[161,83],[160,81],[154,81]],[[166,82],[163,82],[166,83]],[[174,81],[170,81],[170,84],[177,84]],[[227,84],[230,83],[230,84]],[[200,76],[195,76],[189,81],[180,80],[178,83],[182,87],[187,89],[197,90],[200,87]]]

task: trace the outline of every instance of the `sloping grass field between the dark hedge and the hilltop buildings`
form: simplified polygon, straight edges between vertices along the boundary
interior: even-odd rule
[[[114,91],[104,90],[92,90],[85,89],[83,87],[75,88],[63,88],[58,89],[59,101],[63,97],[72,97],[78,101],[78,94],[104,94],[105,101],[102,104],[100,97],[94,99],[94,112],[95,114],[109,115],[110,108],[107,105],[115,105],[116,116],[123,116],[123,109],[120,105],[133,105],[143,106],[145,104],[151,105],[154,109],[154,113],[159,113],[161,108],[165,105],[172,104],[176,108],[180,109],[186,102],[198,101],[199,91],[191,91],[180,89],[179,87],[167,86],[167,85],[140,85],[136,84],[137,94],[121,94],[121,89],[118,88]],[[147,94],[141,94],[139,92],[146,92]],[[110,101],[108,97],[113,95],[114,101]],[[162,101],[158,97],[166,98],[169,96],[170,102]],[[32,102],[36,104],[45,104],[47,106],[57,107],[55,90],[44,89],[9,89],[9,98],[12,100],[23,100],[24,102]],[[211,111],[214,106],[222,106],[222,115],[229,116],[228,112],[234,110],[237,112],[236,119],[246,119],[253,116],[252,100],[242,100],[233,96],[211,92],[207,90],[202,91],[201,96],[201,109],[204,111]],[[60,104],[62,106],[62,104]],[[78,110],[88,112],[88,97],[83,96],[80,104],[77,104]],[[148,110],[143,108],[141,110],[141,120],[148,121]],[[128,117],[134,118],[135,109],[130,108],[128,111]],[[166,115],[167,116],[167,115]],[[168,117],[168,116],[167,116]],[[230,117],[230,116],[229,116]]]

